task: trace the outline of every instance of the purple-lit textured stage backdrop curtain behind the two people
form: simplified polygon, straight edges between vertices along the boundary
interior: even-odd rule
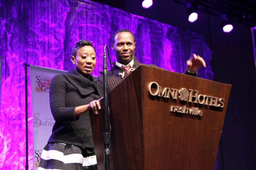
[[[23,63],[69,70],[73,67],[70,61],[73,45],[80,39],[87,39],[93,42],[97,56],[93,75],[99,75],[104,45],[110,48],[111,35],[121,28],[134,33],[138,61],[182,73],[186,60],[196,53],[204,57],[207,64],[207,68],[198,72],[199,77],[213,79],[212,51],[201,34],[89,0],[0,1],[0,56],[3,57],[0,169],[25,169]],[[111,60],[115,61],[113,51],[110,53]],[[28,93],[29,169],[32,169],[33,120],[29,80]]]

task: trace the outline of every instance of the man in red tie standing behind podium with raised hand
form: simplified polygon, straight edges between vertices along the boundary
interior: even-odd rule
[[[131,31],[127,29],[121,29],[113,34],[111,48],[116,55],[116,62],[113,62],[113,74],[108,75],[108,91],[111,91],[116,85],[131,74],[142,63],[137,61],[134,57],[135,39]],[[204,59],[200,56],[192,54],[189,60],[186,62],[187,68],[183,74],[197,76],[197,71],[203,65],[206,67]],[[154,68],[159,68],[156,65],[148,65]],[[111,71],[108,71],[111,73]],[[97,78],[97,81],[103,84],[103,75]]]

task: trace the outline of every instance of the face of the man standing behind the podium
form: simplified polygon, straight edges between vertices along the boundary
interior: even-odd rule
[[[135,42],[129,32],[119,32],[116,34],[114,44],[111,44],[115,51],[117,62],[127,65],[134,58]]]

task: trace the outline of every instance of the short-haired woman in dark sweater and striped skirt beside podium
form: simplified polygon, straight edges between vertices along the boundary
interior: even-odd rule
[[[91,42],[80,40],[71,61],[76,69],[53,77],[50,107],[55,124],[38,170],[97,170],[88,111],[98,114],[103,86],[90,75],[96,64]]]

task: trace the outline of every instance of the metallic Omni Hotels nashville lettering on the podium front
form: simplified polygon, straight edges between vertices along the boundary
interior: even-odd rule
[[[156,91],[153,93],[152,88],[155,89]],[[199,103],[201,105],[209,105],[213,106],[216,108],[223,108],[224,107],[224,99],[223,98],[218,98],[214,96],[209,96],[205,94],[199,94],[199,91],[189,89],[187,91],[186,88],[182,88],[181,90],[179,89],[174,89],[174,88],[162,88],[157,82],[151,82],[148,85],[148,92],[152,96],[159,96],[159,97],[164,97],[164,98],[171,98],[172,99],[180,99],[181,101],[188,101],[191,103]],[[202,116],[203,111],[199,110],[198,108],[186,108],[184,107],[179,107],[179,106],[173,106],[171,105],[171,112],[178,112],[178,113],[185,113],[185,114],[191,114],[191,115],[198,115]]]

